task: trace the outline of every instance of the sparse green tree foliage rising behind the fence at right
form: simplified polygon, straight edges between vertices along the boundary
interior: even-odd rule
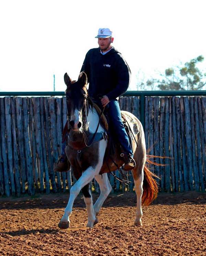
[[[138,89],[143,90],[203,90],[206,85],[206,74],[197,68],[197,64],[203,62],[202,55],[191,59],[184,65],[165,69],[160,76],[162,79],[149,79],[141,82]]]

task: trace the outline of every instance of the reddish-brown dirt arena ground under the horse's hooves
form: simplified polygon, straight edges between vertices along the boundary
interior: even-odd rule
[[[206,255],[206,193],[160,193],[143,207],[142,227],[133,225],[135,193],[111,194],[93,229],[80,195],[62,231],[68,197],[1,198],[0,255]]]

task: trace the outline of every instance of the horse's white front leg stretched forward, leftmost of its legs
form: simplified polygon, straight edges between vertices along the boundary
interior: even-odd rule
[[[58,227],[60,229],[67,229],[69,227],[70,225],[69,216],[71,215],[75,198],[78,196],[80,190],[94,178],[94,176],[98,173],[98,171],[99,169],[97,170],[97,168],[93,168],[92,166],[90,166],[82,173],[82,176],[71,187],[67,207],[65,208],[64,215],[62,216],[61,221],[58,224]],[[93,205],[92,205],[92,208],[93,208]],[[94,218],[94,221],[95,221],[95,218]]]

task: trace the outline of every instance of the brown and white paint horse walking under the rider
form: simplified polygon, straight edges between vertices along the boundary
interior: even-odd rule
[[[78,81],[72,81],[67,73],[64,76],[66,89],[66,101],[68,111],[68,144],[66,146],[66,154],[71,164],[70,169],[77,178],[77,182],[70,189],[70,196],[64,215],[62,216],[58,226],[60,229],[67,229],[70,225],[69,217],[72,213],[72,206],[75,198],[82,190],[84,202],[88,212],[88,227],[93,227],[98,223],[97,215],[102,207],[103,202],[112,190],[112,186],[107,177],[107,173],[100,175],[103,165],[104,155],[107,148],[107,138],[104,136],[105,130],[99,124],[99,114],[92,108],[92,101],[87,92],[87,76],[84,72],[80,73]],[[146,146],[144,130],[140,121],[131,113],[122,111],[126,116],[127,122],[136,138],[131,138],[132,148],[136,167],[132,171],[134,178],[134,189],[137,195],[137,211],[135,225],[142,225],[142,209],[141,203],[150,204],[156,198],[158,188],[152,172],[146,167]],[[99,124],[99,127],[98,127]],[[98,127],[98,130],[96,131]],[[88,136],[95,132],[102,134],[102,139],[87,145],[81,150],[75,149],[75,145],[89,143]],[[90,136],[91,137],[91,136]],[[86,138],[86,142],[85,142]],[[73,143],[73,144],[72,144]],[[71,145],[74,145],[72,147]],[[117,169],[117,168],[115,168]],[[100,196],[93,205],[92,194],[90,191],[90,182],[92,179],[99,183]]]

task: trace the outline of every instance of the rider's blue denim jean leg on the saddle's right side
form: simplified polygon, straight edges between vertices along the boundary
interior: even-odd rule
[[[131,156],[133,157],[133,152],[129,143],[129,138],[127,136],[125,127],[121,119],[119,102],[117,100],[111,100],[108,104],[108,112],[111,120],[110,124],[112,124],[113,130],[115,131],[116,136],[118,137],[118,140],[122,145],[124,151],[131,154]]]

